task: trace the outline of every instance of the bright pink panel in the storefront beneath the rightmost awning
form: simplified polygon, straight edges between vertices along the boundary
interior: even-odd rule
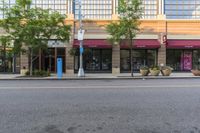
[[[181,55],[181,70],[189,71],[192,69],[192,51],[183,51]]]

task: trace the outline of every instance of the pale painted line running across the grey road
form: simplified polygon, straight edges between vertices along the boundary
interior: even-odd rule
[[[160,86],[0,86],[0,90],[6,89],[105,89],[105,88],[200,88],[200,85],[160,85]]]

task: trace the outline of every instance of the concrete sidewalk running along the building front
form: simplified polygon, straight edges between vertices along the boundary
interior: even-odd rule
[[[78,77],[77,74],[67,75],[63,74],[61,79],[68,80],[84,80],[84,79],[179,79],[179,78],[200,78],[200,76],[193,76],[191,72],[173,72],[170,76],[141,76],[140,73],[134,73],[134,77],[131,77],[130,73],[121,73],[112,75],[111,73],[86,73],[85,77]],[[53,80],[58,79],[56,74],[51,74],[49,77],[25,77],[20,74],[0,74],[0,80],[9,79],[30,79],[30,80]]]

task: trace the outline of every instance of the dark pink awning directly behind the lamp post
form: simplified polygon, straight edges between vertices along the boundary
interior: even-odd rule
[[[74,40],[74,47],[79,47],[80,42]],[[86,48],[112,48],[112,45],[106,39],[85,39],[83,40],[83,47]]]

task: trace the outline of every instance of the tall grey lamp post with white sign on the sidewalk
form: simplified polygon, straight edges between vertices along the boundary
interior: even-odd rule
[[[83,36],[84,36],[84,30],[82,29],[82,14],[81,14],[81,0],[78,0],[79,4],[79,30],[78,30],[78,40],[80,42],[80,64],[79,64],[79,70],[78,70],[78,77],[84,77],[84,70],[83,70]]]

